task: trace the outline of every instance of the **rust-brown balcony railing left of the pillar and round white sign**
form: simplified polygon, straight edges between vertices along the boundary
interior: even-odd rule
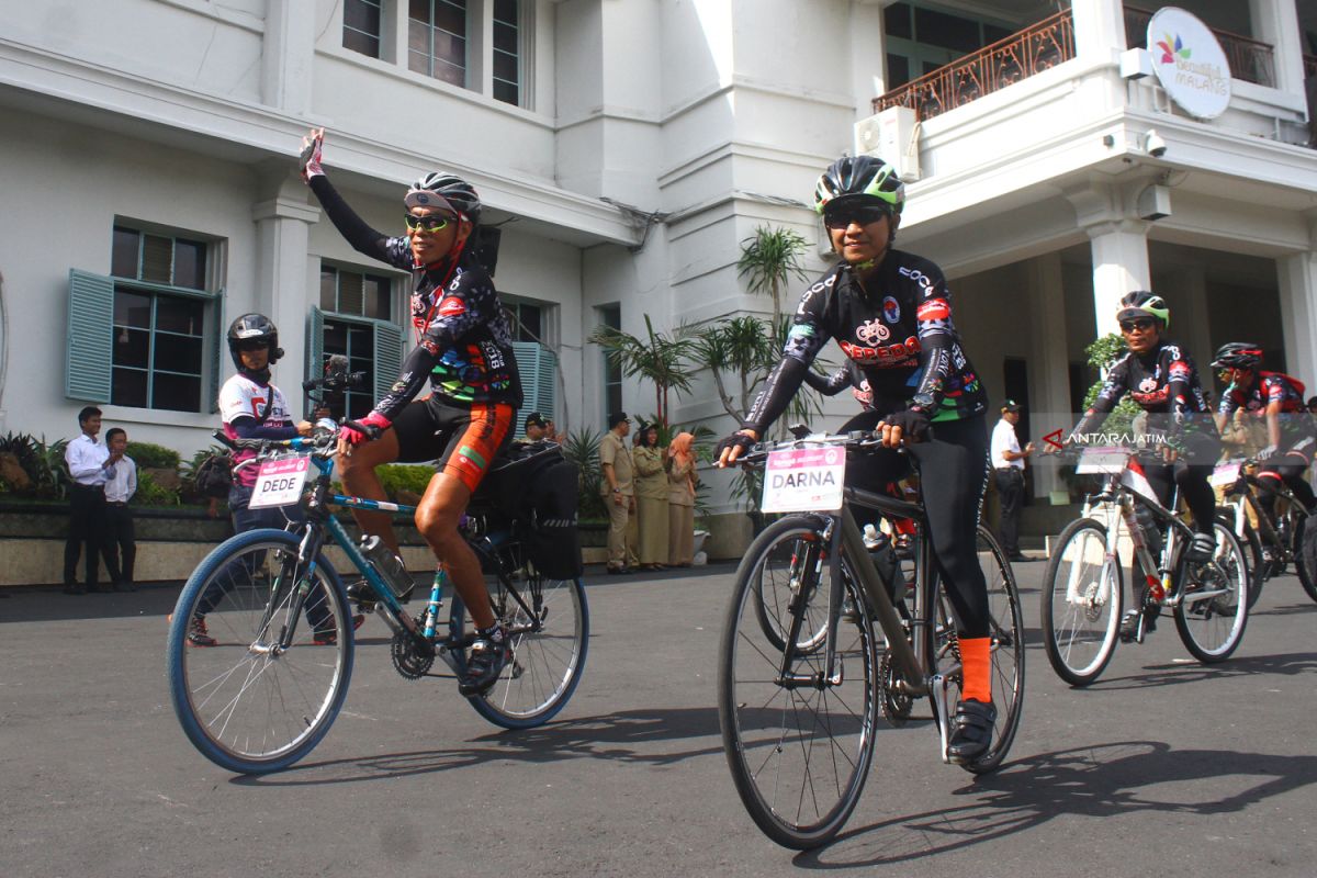
[[[873,112],[910,107],[921,120],[931,118],[1073,57],[1075,28],[1065,9],[874,97]]]

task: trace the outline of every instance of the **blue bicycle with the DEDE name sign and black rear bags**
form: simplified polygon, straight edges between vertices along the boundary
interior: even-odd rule
[[[331,505],[415,512],[415,507],[331,491],[337,432],[230,444],[255,448],[255,461],[263,465],[317,470],[304,504],[306,520],[286,530],[240,533],[216,546],[183,586],[169,632],[170,696],[184,733],[216,765],[259,774],[306,757],[329,731],[348,694],[352,615],[342,579],[324,555],[327,541],[342,549],[374,594],[375,613],[392,632],[394,667],[403,678],[461,678],[474,632],[456,592],[444,629],[440,613],[448,577],[443,569],[433,578],[424,612],[414,617],[403,607],[406,595],[395,594],[387,575],[335,519]],[[300,484],[290,491],[300,496]],[[533,728],[557,715],[579,682],[590,631],[585,590],[578,578],[552,579],[536,571],[524,550],[525,523],[481,512],[478,505],[471,509],[462,534],[486,573],[512,657],[490,690],[468,700],[495,725]],[[312,624],[312,616],[319,621]],[[188,646],[187,634],[198,619],[217,645]],[[316,636],[331,645],[313,645]],[[431,673],[436,658],[452,673]]]

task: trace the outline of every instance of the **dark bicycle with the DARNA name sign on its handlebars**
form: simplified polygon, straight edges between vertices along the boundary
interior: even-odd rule
[[[761,467],[773,450],[810,446],[844,448],[849,458],[881,442],[869,433],[811,436],[757,445],[741,461]],[[836,512],[788,515],[755,538],[736,571],[719,648],[718,717],[736,791],[759,828],[794,849],[826,844],[855,810],[880,710],[898,727],[910,719],[914,702],[927,696],[948,762],[950,719],[959,700],[959,641],[926,538],[923,505],[852,486],[843,498]],[[874,563],[852,505],[914,523],[909,595],[894,559],[881,558],[881,569]],[[980,774],[1001,765],[1015,737],[1025,641],[1005,553],[986,528],[979,528],[977,538],[998,707],[988,752],[963,766]]]

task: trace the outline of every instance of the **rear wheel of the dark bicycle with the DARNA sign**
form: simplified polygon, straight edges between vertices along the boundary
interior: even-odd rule
[[[997,723],[988,750],[960,767],[971,774],[989,774],[1001,767],[1015,740],[1015,732],[1019,731],[1025,707],[1025,615],[1019,607],[1019,587],[1015,583],[1014,570],[1006,561],[1006,552],[992,530],[982,524],[979,525],[977,554],[988,584],[992,692],[993,704],[997,706]],[[938,587],[936,607],[935,636],[928,641],[932,648],[928,667],[951,679],[952,687],[947,692],[947,700],[948,704],[955,704],[960,700],[960,653],[944,584]],[[936,702],[932,704],[936,713]]]

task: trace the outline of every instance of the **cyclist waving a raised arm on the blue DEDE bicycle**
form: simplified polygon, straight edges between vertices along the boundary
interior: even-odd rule
[[[375,467],[394,461],[441,461],[416,508],[416,528],[444,563],[475,623],[477,640],[461,681],[464,695],[487,690],[508,658],[479,561],[457,530],[466,504],[495,455],[512,438],[522,382],[512,332],[498,291],[469,247],[481,201],[465,180],[441,171],[419,179],[403,204],[406,236],[370,228],[329,184],[320,165],[324,129],[303,138],[302,176],[335,228],[360,253],[412,272],[417,345],[374,411],[341,432],[340,466],[349,491],[385,499]],[[429,395],[412,399],[429,383]],[[398,553],[389,513],[353,511],[367,533]]]

